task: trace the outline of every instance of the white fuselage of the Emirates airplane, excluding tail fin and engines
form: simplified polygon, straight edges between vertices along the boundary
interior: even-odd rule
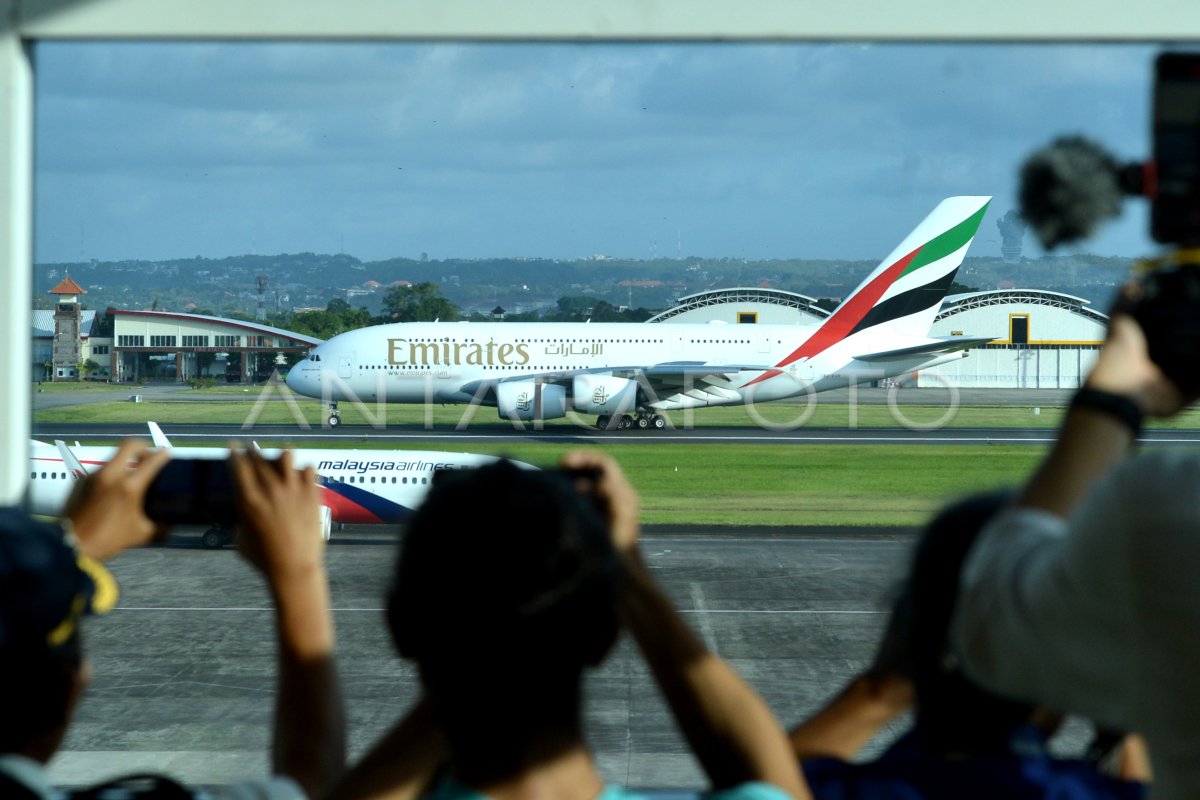
[[[644,323],[400,323],[342,333],[317,347],[288,373],[288,386],[326,401],[388,403],[497,404],[490,391],[524,379],[563,380],[614,375],[630,379],[655,367],[692,365],[697,377],[672,383],[670,392],[644,397],[655,409],[728,405],[773,401],[851,383],[905,374],[930,363],[929,356],[881,366],[858,361],[856,353],[919,345],[928,337],[881,339],[863,331],[832,343],[812,357],[786,367],[781,360],[802,348],[816,325],[689,325]],[[953,357],[961,357],[954,354]],[[942,361],[947,360],[944,357]],[[714,367],[719,375],[713,375]],[[682,367],[686,371],[688,367]],[[678,369],[677,369],[678,371]],[[569,392],[580,397],[594,381]],[[641,381],[643,392],[649,381]]]

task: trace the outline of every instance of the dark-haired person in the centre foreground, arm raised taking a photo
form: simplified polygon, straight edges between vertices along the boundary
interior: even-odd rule
[[[605,784],[582,728],[581,685],[624,624],[713,788],[808,796],[762,699],[682,621],[637,551],[637,494],[616,464],[583,475],[502,462],[439,477],[404,539],[388,600],[425,699],[335,793],[496,800],[628,794]],[[726,796],[726,793],[722,793]]]

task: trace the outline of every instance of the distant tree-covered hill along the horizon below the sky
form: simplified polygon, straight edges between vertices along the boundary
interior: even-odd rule
[[[252,315],[258,305],[256,278],[265,276],[269,313],[324,308],[340,297],[379,313],[383,294],[395,282],[437,283],[464,313],[511,313],[547,308],[563,296],[592,296],[613,306],[666,308],[677,297],[724,287],[770,287],[815,297],[842,297],[875,266],[874,261],[742,260],[689,257],[654,260],[553,260],[488,258],[361,261],[353,255],[292,253],[188,258],[162,261],[37,264],[35,307],[48,308],[46,293],[70,273],[86,290],[89,308],[157,308],[222,315]],[[1132,259],[1087,254],[1006,261],[967,258],[961,284],[977,289],[1049,289],[1091,300],[1106,308],[1129,275]]]

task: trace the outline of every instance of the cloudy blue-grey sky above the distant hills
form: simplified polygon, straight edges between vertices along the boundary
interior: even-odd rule
[[[37,261],[878,259],[1036,146],[1150,148],[1142,46],[47,43]],[[1146,215],[1080,247],[1146,254]],[[1026,254],[1039,251],[1026,240]]]

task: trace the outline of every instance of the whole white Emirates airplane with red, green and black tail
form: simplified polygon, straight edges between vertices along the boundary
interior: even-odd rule
[[[314,348],[288,386],[338,401],[474,403],[509,420],[595,414],[601,428],[662,428],[662,410],[751,404],[961,359],[990,338],[930,325],[990,197],[952,197],[816,325],[395,323]]]

